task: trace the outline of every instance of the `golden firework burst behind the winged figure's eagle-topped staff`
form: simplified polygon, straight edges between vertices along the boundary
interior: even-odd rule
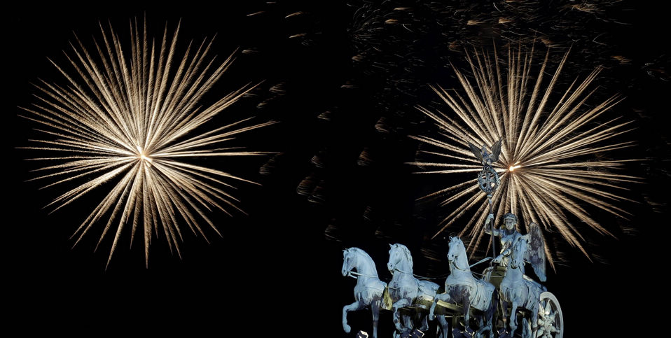
[[[582,244],[583,236],[567,214],[576,216],[601,234],[610,235],[606,228],[590,217],[583,204],[626,217],[628,213],[611,202],[630,199],[602,191],[600,187],[623,190],[621,183],[636,182],[635,176],[609,172],[632,160],[598,160],[590,155],[631,147],[632,141],[612,143],[616,136],[630,130],[626,129],[630,122],[619,122],[619,118],[603,124],[597,122],[597,118],[620,101],[616,96],[596,106],[586,106],[585,102],[595,92],[588,92],[588,87],[600,69],[595,69],[582,81],[574,80],[554,103],[552,94],[557,92],[555,85],[568,52],[546,85],[544,77],[548,72],[549,50],[537,73],[532,71],[533,48],[530,52],[509,48],[508,54],[507,73],[504,73],[504,65],[499,62],[496,51],[493,62],[485,52],[467,55],[472,78],[452,66],[466,97],[456,91],[432,87],[456,116],[418,107],[440,127],[441,137],[413,138],[440,148],[441,151],[424,153],[443,157],[444,162],[412,164],[428,168],[424,173],[475,174],[482,170],[482,164],[473,157],[466,143],[492,145],[503,139],[499,162],[494,164],[501,177],[499,189],[493,197],[497,218],[500,219],[505,212],[521,213],[526,225],[535,222],[546,231],[557,230],[569,244],[589,257]],[[471,83],[473,78],[475,84]],[[472,252],[483,239],[483,223],[488,208],[485,195],[477,189],[476,178],[423,198],[441,196],[447,196],[441,206],[453,205],[455,210],[445,217],[436,235],[455,225],[460,217],[472,215],[459,234],[475,239],[469,245]],[[554,267],[553,255],[547,246],[546,253]]]

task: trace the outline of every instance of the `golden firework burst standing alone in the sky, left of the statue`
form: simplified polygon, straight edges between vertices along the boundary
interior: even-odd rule
[[[181,159],[265,154],[216,147],[234,139],[236,134],[272,124],[244,125],[250,120],[247,118],[201,132],[200,128],[209,120],[256,86],[245,85],[212,106],[202,108],[200,100],[228,69],[233,55],[216,66],[214,57],[207,57],[212,40],[205,39],[197,47],[189,44],[184,57],[178,59],[179,24],[172,38],[165,27],[160,45],[148,41],[146,23],[141,32],[137,20],[130,26],[130,55],[111,27],[108,32],[100,25],[103,41],[94,41],[93,52],[76,37],[76,45],[71,43],[71,53],[65,53],[76,75],[52,61],[68,85],[41,81],[35,85],[41,91],[36,95],[39,103],[22,108],[31,113],[22,117],[43,125],[44,129],[37,130],[50,136],[29,140],[38,144],[22,148],[66,154],[29,159],[58,163],[36,169],[49,174],[32,180],[57,179],[46,185],[50,187],[88,178],[88,182],[55,198],[49,204],[57,205],[54,211],[99,185],[116,182],[73,234],[78,235],[76,245],[95,223],[109,215],[99,245],[118,222],[107,265],[127,223],[132,222],[131,244],[137,228],[144,228],[146,265],[152,230],[158,235],[162,229],[170,250],[174,246],[178,255],[182,239],[180,219],[206,241],[200,219],[220,234],[206,211],[216,208],[229,215],[230,209],[242,211],[237,206],[238,200],[225,191],[235,187],[222,180],[254,182]]]

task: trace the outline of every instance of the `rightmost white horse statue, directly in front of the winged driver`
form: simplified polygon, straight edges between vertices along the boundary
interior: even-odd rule
[[[508,262],[506,274],[501,280],[499,293],[501,296],[501,309],[506,318],[508,303],[511,304],[511,314],[509,325],[511,335],[514,335],[518,327],[517,309],[521,307],[531,312],[532,337],[535,337],[538,330],[538,311],[543,288],[540,284],[534,283],[524,278],[524,258],[527,250],[527,239],[518,237],[511,246],[511,259]]]

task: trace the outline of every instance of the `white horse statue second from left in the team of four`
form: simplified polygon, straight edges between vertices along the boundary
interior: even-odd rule
[[[406,330],[411,330],[414,325],[410,316],[403,316],[401,325],[401,313],[399,309],[403,307],[415,307],[422,326],[421,331],[429,328],[427,323],[427,310],[424,302],[433,301],[438,291],[438,284],[430,281],[420,281],[413,275],[413,256],[406,246],[402,244],[389,244],[389,262],[387,269],[392,272],[392,281],[389,282],[389,297],[392,298],[392,311],[394,311],[394,325],[396,325],[395,335],[399,335]],[[443,334],[447,335],[448,323],[444,316],[438,316],[438,321],[443,328]]]

